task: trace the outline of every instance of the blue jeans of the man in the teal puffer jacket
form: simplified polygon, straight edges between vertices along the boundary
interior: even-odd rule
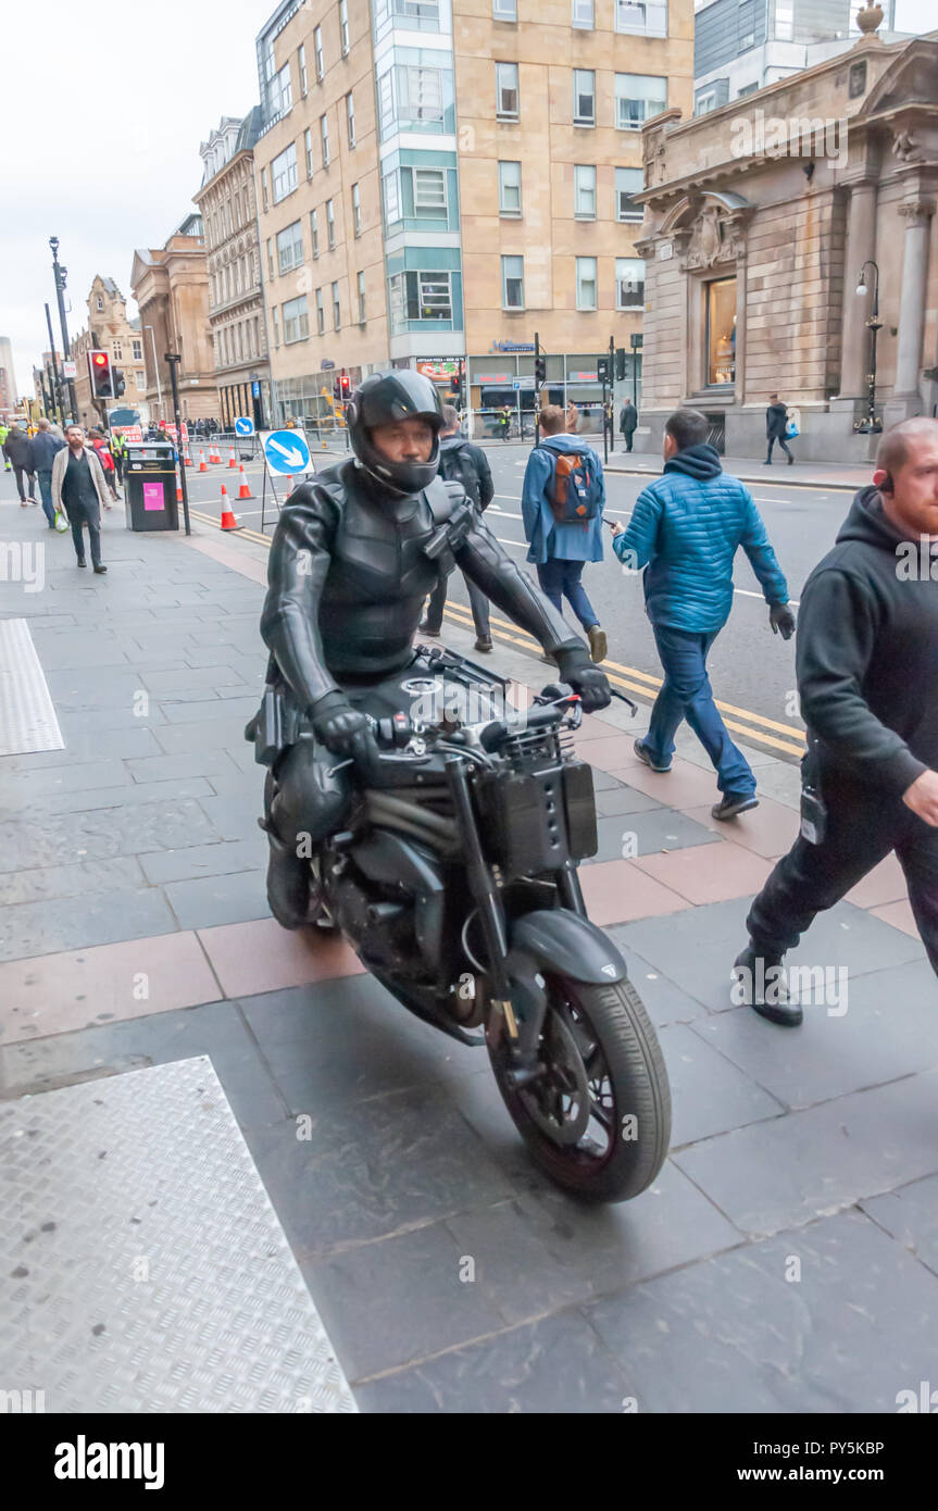
[[[707,654],[719,632],[693,635],[687,630],[672,630],[668,624],[654,624],[653,630],[665,671],[665,683],[651,710],[651,728],[642,740],[653,763],[656,766],[671,763],[678,724],[687,719],[716,766],[719,790],[755,792],[752,768],[727,733],[707,675]]]

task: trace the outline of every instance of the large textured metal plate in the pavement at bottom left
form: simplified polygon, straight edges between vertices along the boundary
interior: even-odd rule
[[[0,1106],[0,1384],[45,1411],[355,1411],[205,1056]]]

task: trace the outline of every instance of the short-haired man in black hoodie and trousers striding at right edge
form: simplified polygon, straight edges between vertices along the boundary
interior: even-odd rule
[[[798,629],[805,789],[820,804],[802,802],[802,836],[752,904],[734,966],[752,988],[743,1000],[785,1026],[802,1009],[784,952],[893,849],[938,973],[938,420],[885,432]]]

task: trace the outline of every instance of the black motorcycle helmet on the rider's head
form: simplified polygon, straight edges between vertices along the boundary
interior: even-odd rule
[[[429,461],[391,462],[372,443],[372,431],[378,425],[394,425],[397,420],[426,420],[432,425],[434,449]],[[437,476],[443,406],[429,378],[408,367],[373,373],[349,399],[346,423],[358,462],[388,493],[406,499],[408,494],[420,493]]]

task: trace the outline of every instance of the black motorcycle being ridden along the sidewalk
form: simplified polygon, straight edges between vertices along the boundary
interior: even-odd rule
[[[625,1201],[668,1154],[668,1073],[621,953],[586,916],[577,861],[595,854],[597,822],[569,737],[580,701],[553,684],[506,710],[506,688],[420,647],[358,700],[378,754],[347,828],[311,860],[311,922],[338,928],[417,1017],[488,1049],[559,1186]],[[269,774],[267,816],[275,790]]]

